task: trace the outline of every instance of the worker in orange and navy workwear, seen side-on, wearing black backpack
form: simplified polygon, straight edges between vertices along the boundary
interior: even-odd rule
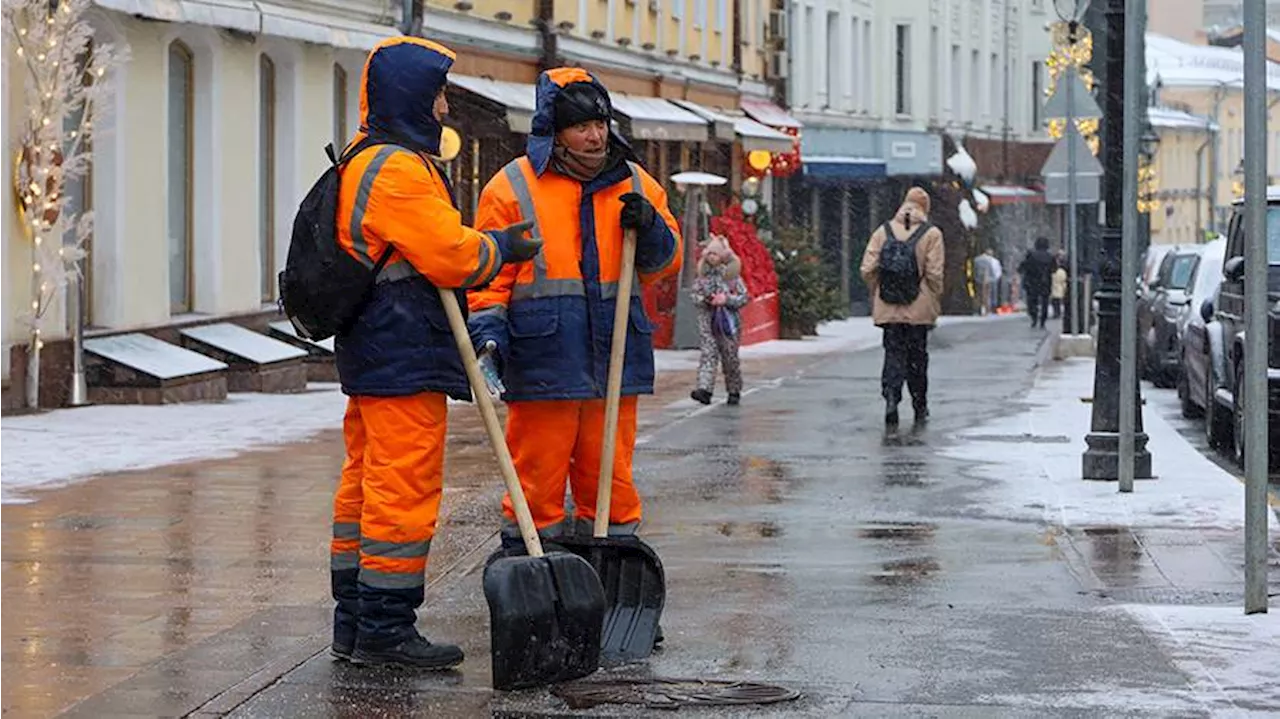
[[[374,290],[334,353],[347,459],[334,496],[332,651],[360,663],[440,669],[462,650],[415,628],[444,472],[445,402],[471,399],[436,288],[481,287],[539,242],[527,225],[462,224],[440,152],[451,50],[393,37],[369,55],[360,132],[340,170],[338,242],[374,267]]]

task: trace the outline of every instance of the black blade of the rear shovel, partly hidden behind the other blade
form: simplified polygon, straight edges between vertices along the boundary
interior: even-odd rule
[[[590,562],[604,586],[600,659],[605,664],[648,659],[667,601],[667,578],[658,553],[637,537],[575,536],[557,542]]]

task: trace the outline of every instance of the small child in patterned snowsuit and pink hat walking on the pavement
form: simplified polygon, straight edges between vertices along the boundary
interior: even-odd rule
[[[716,389],[716,368],[724,365],[728,403],[742,398],[742,367],[739,363],[739,310],[750,299],[742,283],[742,261],[724,237],[713,234],[698,261],[698,279],[691,292],[698,304],[698,334],[701,358],[698,362],[698,389],[690,397],[710,404]]]

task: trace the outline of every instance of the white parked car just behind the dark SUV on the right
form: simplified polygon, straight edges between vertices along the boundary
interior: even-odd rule
[[[1225,256],[1226,238],[1215,239],[1204,246],[1204,252],[1196,265],[1188,301],[1180,308],[1178,399],[1183,407],[1183,417],[1187,418],[1202,417],[1212,397],[1207,385],[1210,354],[1202,307],[1206,302],[1212,307],[1217,288],[1222,284]]]

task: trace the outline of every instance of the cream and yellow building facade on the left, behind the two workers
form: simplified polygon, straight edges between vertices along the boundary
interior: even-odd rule
[[[74,188],[95,214],[86,336],[177,342],[180,328],[279,319],[275,276],[297,203],[328,162],[325,145],[357,129],[369,49],[402,28],[458,51],[445,124],[462,142],[447,166],[470,219],[483,184],[522,152],[538,73],[559,64],[602,77],[655,175],[708,169],[736,187],[746,151],[794,147],[744,111],[776,109],[769,18],[767,0],[102,0],[99,41],[131,58],[115,72],[92,171]],[[18,63],[5,68],[0,152],[12,156],[23,75]],[[32,280],[13,205],[0,212],[3,409],[20,404]],[[41,375],[49,406],[65,400],[69,365],[61,307],[54,315]]]

